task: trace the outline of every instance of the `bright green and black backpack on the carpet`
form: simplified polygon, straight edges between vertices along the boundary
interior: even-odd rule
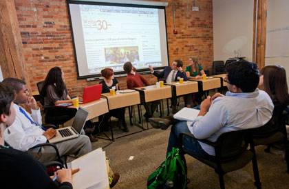
[[[160,167],[149,175],[147,188],[186,188],[186,168],[178,148],[173,148]]]

